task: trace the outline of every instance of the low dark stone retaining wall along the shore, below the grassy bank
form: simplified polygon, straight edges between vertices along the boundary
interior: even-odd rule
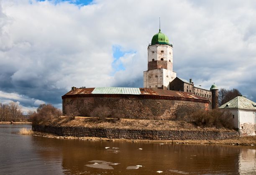
[[[150,139],[150,140],[205,140],[228,139],[238,136],[238,132],[216,131],[175,131],[175,130],[142,130],[91,127],[51,127],[33,125],[33,131],[49,132],[59,136],[103,137],[109,139]]]

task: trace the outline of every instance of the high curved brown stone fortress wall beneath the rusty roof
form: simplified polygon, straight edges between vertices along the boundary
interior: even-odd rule
[[[66,96],[63,98],[63,112],[67,114],[67,107],[79,112],[79,116],[90,116],[96,107],[108,107],[123,118],[129,119],[158,119],[173,121],[190,121],[190,114],[195,109],[210,109],[207,101],[195,99],[159,99],[155,96],[124,95],[124,94],[87,94],[85,96]]]

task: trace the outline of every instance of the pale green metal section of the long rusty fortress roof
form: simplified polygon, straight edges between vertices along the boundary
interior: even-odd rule
[[[92,94],[141,94],[139,88],[126,87],[97,87],[92,91]]]

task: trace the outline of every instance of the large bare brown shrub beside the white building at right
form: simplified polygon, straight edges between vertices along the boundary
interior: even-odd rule
[[[197,126],[233,128],[232,114],[220,109],[198,110],[191,118]]]

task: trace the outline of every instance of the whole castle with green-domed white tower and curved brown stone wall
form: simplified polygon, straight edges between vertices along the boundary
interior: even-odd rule
[[[188,82],[178,78],[173,71],[172,53],[172,44],[159,29],[148,46],[144,88],[72,87],[62,96],[63,113],[73,109],[79,116],[90,117],[95,108],[105,106],[123,118],[190,121],[196,109],[218,107],[217,86],[213,84],[207,90],[195,86],[192,79]]]

